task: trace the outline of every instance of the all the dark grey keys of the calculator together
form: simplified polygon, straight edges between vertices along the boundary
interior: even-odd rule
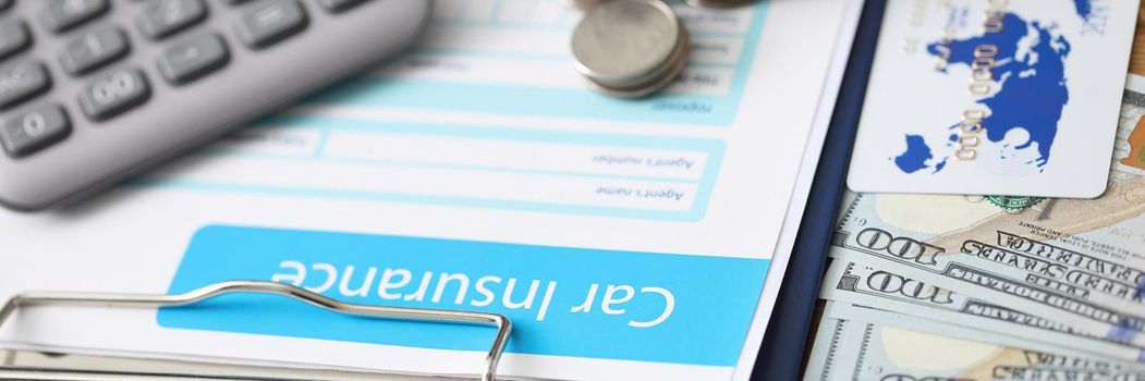
[[[0,14],[17,0],[0,0]],[[132,41],[120,25],[101,22],[112,18],[112,0],[44,0],[34,2],[33,19],[0,17],[0,145],[13,158],[35,153],[65,138],[71,129],[66,105],[35,105],[37,96],[52,89],[50,71],[44,62],[17,59],[34,43],[31,24],[42,26],[63,39],[53,51],[58,68],[84,81],[73,96],[80,113],[92,121],[106,121],[148,101],[152,89],[141,68],[108,66],[132,55]],[[347,11],[366,0],[317,0],[330,14]],[[166,41],[153,62],[158,74],[174,86],[189,86],[227,65],[230,61],[227,39],[219,31],[185,32],[210,17],[206,0],[147,0],[132,6],[129,23],[151,41]],[[264,49],[305,30],[309,23],[306,8],[297,0],[226,0],[220,10],[236,13],[234,32],[250,49]],[[229,8],[229,9],[228,9]],[[120,10],[117,8],[116,14]],[[119,21],[119,17],[116,17]],[[177,37],[177,38],[176,38]],[[55,48],[53,48],[55,49]],[[44,57],[47,58],[47,57]],[[33,105],[34,109],[23,108]]]

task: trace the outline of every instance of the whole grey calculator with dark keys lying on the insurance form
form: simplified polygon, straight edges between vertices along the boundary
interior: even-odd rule
[[[70,205],[378,65],[432,6],[0,0],[0,205]]]

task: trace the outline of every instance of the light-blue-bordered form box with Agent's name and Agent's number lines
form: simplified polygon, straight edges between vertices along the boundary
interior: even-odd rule
[[[724,144],[284,118],[244,129],[140,184],[695,221]]]

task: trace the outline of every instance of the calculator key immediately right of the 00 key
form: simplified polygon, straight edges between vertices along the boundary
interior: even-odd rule
[[[164,50],[159,72],[171,82],[185,84],[221,68],[228,57],[222,39],[203,34]]]

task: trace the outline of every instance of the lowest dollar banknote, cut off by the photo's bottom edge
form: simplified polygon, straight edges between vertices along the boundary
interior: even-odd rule
[[[828,303],[807,381],[1145,380],[1135,364],[992,342],[971,328]]]

